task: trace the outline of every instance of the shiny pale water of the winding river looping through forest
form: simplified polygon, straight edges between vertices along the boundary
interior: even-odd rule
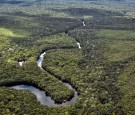
[[[81,45],[80,45],[79,42],[77,42],[77,45],[78,45],[78,48],[81,49]],[[45,55],[46,55],[46,52],[43,52],[42,54],[40,54],[39,59],[37,60],[37,66],[40,67],[41,69],[43,69],[42,68],[42,62],[43,62],[43,59],[44,59]],[[23,62],[19,62],[19,65],[22,66]],[[78,97],[76,89],[74,89],[72,87],[72,85],[70,85],[69,83],[65,83],[65,82],[62,82],[62,83],[65,86],[67,86],[69,89],[72,89],[74,91],[73,98],[71,100],[67,101],[67,102],[62,103],[62,104],[55,103],[55,101],[50,96],[46,95],[45,91],[42,91],[42,90],[40,90],[36,87],[33,87],[33,86],[21,84],[21,85],[12,86],[10,88],[17,89],[17,90],[28,90],[28,91],[30,91],[31,93],[33,93],[36,96],[37,100],[42,105],[45,105],[45,106],[66,106],[66,105],[74,104],[77,100],[77,97]]]

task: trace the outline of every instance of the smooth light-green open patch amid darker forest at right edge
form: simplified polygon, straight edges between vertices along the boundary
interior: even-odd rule
[[[101,30],[97,37],[108,41],[109,50],[105,57],[110,61],[126,60],[135,55],[134,31]]]

